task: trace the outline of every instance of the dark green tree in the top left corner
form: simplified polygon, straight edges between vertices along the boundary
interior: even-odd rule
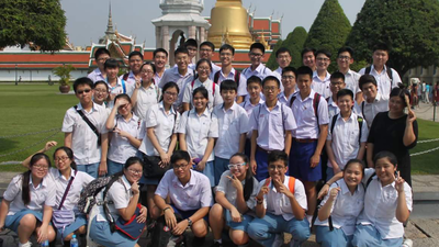
[[[58,50],[66,43],[66,16],[59,0],[0,1],[0,47]]]

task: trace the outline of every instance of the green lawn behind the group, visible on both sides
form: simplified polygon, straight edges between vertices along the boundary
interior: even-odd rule
[[[0,85],[0,162],[20,161],[41,149],[47,139],[63,144],[59,131],[66,110],[77,103],[72,94],[59,94],[58,86]],[[418,120],[419,141],[439,138],[439,123]],[[29,134],[21,136],[23,134]],[[420,143],[412,154],[439,146],[439,142]],[[13,154],[15,153],[15,154]],[[52,156],[52,153],[48,155]],[[439,150],[412,157],[412,172],[439,175]],[[21,171],[20,165],[2,165],[0,171]]]

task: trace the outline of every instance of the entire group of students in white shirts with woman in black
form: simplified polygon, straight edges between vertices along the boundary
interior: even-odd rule
[[[165,49],[154,52],[154,63],[133,52],[131,71],[117,77],[117,60],[98,49],[98,68],[74,83],[79,103],[64,117],[65,146],[54,154],[57,169],[49,169],[43,154],[23,162],[30,171],[8,188],[0,226],[16,231],[20,245],[29,246],[33,232],[38,242],[55,238],[47,216],[52,207],[54,215],[71,211],[75,222],[57,228],[57,236],[69,242],[74,233],[86,233],[87,221],[75,204],[81,189],[93,178],[119,176],[106,195],[113,202],[110,212],[131,218],[143,184],[146,207],[137,221],[155,220],[155,235],[166,225],[180,242],[191,227],[194,240],[202,240],[211,226],[214,246],[222,246],[225,228],[238,246],[249,238],[280,246],[285,232],[292,234],[291,246],[300,246],[309,236],[316,184],[324,178],[324,191],[331,188],[315,223],[318,243],[402,245],[412,211],[408,149],[416,145],[417,123],[412,111],[405,113],[409,94],[397,87],[399,76],[385,65],[385,45],[374,48],[363,76],[350,70],[349,47],[339,49],[333,75],[330,54],[323,49],[305,48],[304,66],[295,69],[289,67],[290,50],[280,48],[280,67],[271,71],[262,64],[263,45],[255,43],[251,66],[243,72],[232,66],[230,45],[219,48],[222,67],[211,60],[212,43],[200,45],[201,59],[192,64],[196,50],[196,42],[188,40],[175,50],[176,67],[166,70]],[[169,170],[151,177],[145,164]],[[55,188],[47,187],[52,181]],[[89,218],[90,239],[137,245],[110,231],[104,214],[98,205]]]

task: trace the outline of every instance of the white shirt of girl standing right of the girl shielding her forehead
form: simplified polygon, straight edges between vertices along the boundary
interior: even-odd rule
[[[164,151],[168,151],[169,144],[171,143],[171,135],[172,133],[177,133],[180,113],[176,112],[173,108],[169,110],[169,113],[166,113],[164,102],[160,102],[150,106],[146,115],[145,136],[142,139],[138,150],[148,156],[159,156],[148,138],[147,128],[154,127],[154,134],[156,135],[158,144]]]

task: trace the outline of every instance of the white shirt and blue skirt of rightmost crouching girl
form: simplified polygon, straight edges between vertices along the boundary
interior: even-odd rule
[[[407,182],[404,182],[404,194],[412,212],[412,188]],[[395,215],[397,198],[395,182],[382,187],[376,176],[372,178],[364,195],[364,210],[357,220],[353,246],[399,247],[403,244],[404,226]]]

